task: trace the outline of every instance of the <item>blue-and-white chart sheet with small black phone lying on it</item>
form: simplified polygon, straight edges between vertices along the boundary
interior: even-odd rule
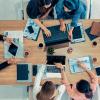
[[[40,27],[33,21],[33,19],[29,18],[24,29],[24,37],[31,40],[37,40],[39,32]]]

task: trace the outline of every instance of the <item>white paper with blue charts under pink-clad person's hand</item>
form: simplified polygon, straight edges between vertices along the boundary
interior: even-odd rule
[[[93,63],[92,63],[92,58],[91,56],[85,56],[85,57],[79,57],[79,58],[73,58],[69,59],[69,66],[70,66],[70,71],[71,73],[77,73],[77,72],[83,72],[84,70],[80,68],[77,64],[77,61],[82,61],[87,65],[88,70],[93,69]]]

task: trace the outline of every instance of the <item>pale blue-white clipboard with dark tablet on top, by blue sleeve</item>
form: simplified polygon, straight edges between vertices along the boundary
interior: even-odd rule
[[[71,29],[71,24],[67,24],[67,31]],[[82,24],[78,23],[76,27],[73,29],[73,35],[71,42],[72,43],[78,43],[78,42],[84,42],[85,41],[85,35],[83,33],[83,27]]]

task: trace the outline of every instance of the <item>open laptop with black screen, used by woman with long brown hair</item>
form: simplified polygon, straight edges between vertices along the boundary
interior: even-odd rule
[[[54,63],[62,63],[65,68],[66,57],[61,55],[48,55],[46,65],[46,77],[47,78],[61,78],[61,71]]]

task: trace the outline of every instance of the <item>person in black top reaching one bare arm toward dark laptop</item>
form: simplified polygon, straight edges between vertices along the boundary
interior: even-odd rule
[[[29,18],[40,26],[46,36],[51,36],[51,32],[41,23],[42,19],[53,18],[53,8],[58,0],[30,0],[26,11]]]

